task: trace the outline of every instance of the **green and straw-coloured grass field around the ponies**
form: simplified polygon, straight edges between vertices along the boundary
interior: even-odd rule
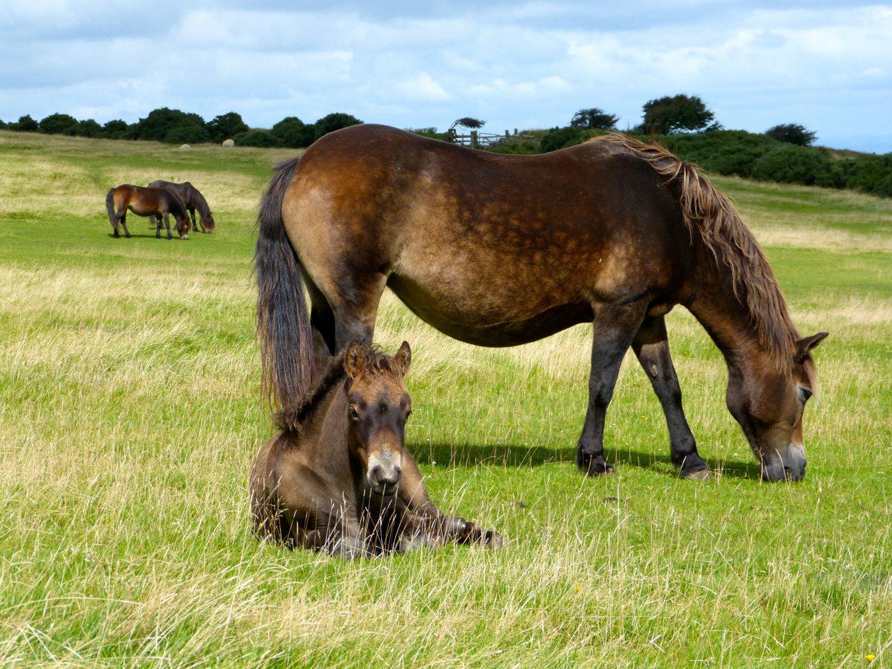
[[[509,544],[347,562],[250,531],[271,431],[252,226],[288,154],[0,131],[0,665],[892,665],[892,202],[714,179],[800,331],[830,331],[793,485],[760,483],[723,359],[681,308],[706,483],[673,475],[631,354],[617,474],[575,472],[591,326],[477,349],[385,295],[376,339],[412,344],[428,490]],[[113,239],[106,191],[155,178],[197,186],[217,232],[156,240],[131,216]]]

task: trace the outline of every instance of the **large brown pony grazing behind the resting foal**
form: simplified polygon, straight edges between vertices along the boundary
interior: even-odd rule
[[[255,254],[273,401],[299,396],[314,357],[371,341],[385,286],[441,332],[481,346],[593,323],[577,466],[589,475],[614,469],[604,424],[631,346],[663,406],[673,463],[702,479],[709,467],[681,408],[664,320],[681,304],[724,355],[727,405],[762,475],[805,475],[810,351],[826,333],[798,335],[756,238],[672,153],[615,134],[502,155],[360,125],[277,170]]]

